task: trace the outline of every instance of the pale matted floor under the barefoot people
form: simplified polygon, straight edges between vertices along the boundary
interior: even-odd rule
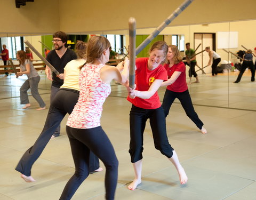
[[[201,77],[201,83],[190,87],[193,102],[197,105],[204,101],[204,104],[211,106],[215,100],[225,106],[223,95],[226,94],[221,93],[221,87],[226,87],[226,82],[221,86],[221,76],[210,78]],[[219,81],[214,83],[212,78]],[[205,83],[218,85],[218,92],[214,91],[214,86],[210,87]],[[234,87],[238,90],[238,86]],[[13,88],[17,88],[18,94],[19,87]],[[254,86],[248,88],[252,90]],[[248,90],[243,89],[244,94],[249,95]],[[47,92],[49,91],[41,90],[44,93],[42,98],[49,107],[50,95]],[[159,91],[161,99],[163,93],[164,90]],[[147,126],[142,183],[138,189],[128,190],[127,184],[133,180],[134,175],[128,153],[131,104],[123,98],[125,95],[121,85],[112,86],[112,93],[103,107],[101,122],[113,142],[119,160],[116,199],[256,199],[256,112],[195,106],[209,132],[203,135],[186,116],[179,103],[174,103],[171,107],[166,124],[169,141],[187,172],[187,184],[180,185],[173,165],[154,148],[150,127]],[[250,95],[255,97],[255,91]],[[48,111],[36,111],[37,102],[33,97],[29,98],[31,107],[27,110],[21,109],[19,98],[0,99],[0,199],[59,199],[66,182],[74,173],[74,163],[65,132],[67,116],[61,124],[61,136],[49,142],[33,166],[32,175],[37,181],[26,183],[14,170],[22,154],[33,145],[41,132]],[[235,103],[242,104],[242,101],[240,98]],[[254,102],[255,98],[252,98],[251,103]],[[212,106],[218,106],[218,103],[212,103]],[[90,174],[73,199],[104,199],[104,175],[105,169],[103,172]]]

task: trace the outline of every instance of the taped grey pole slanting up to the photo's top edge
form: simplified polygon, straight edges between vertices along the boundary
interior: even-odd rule
[[[156,30],[153,31],[136,49],[136,55],[138,55],[166,26],[168,26],[172,20],[174,20],[188,5],[194,0],[186,0],[183,2]]]

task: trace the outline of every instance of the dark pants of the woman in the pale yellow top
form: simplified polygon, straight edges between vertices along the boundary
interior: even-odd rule
[[[52,137],[56,128],[65,115],[71,114],[74,106],[77,103],[79,92],[76,90],[60,89],[55,95],[53,102],[49,108],[47,118],[44,124],[43,131],[37,138],[36,142],[30,147],[21,157],[15,170],[20,173],[30,176],[31,167],[36,162],[37,158],[42,154],[45,146]],[[90,154],[90,172],[99,168],[99,159],[93,153]]]

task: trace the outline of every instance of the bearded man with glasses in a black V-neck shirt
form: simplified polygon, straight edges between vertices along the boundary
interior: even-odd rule
[[[77,58],[76,53],[68,49],[67,46],[68,36],[62,31],[58,31],[53,34],[53,44],[54,50],[47,54],[46,60],[51,63],[51,65],[59,71],[60,75],[56,75],[51,71],[51,69],[46,65],[45,74],[49,80],[52,81],[51,85],[51,96],[50,101],[55,97],[55,94],[59,91],[60,86],[63,84],[63,73],[64,67],[71,60]],[[53,133],[52,138],[58,137],[60,135],[60,126]]]

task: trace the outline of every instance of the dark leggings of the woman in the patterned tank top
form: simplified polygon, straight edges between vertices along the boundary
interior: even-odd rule
[[[69,179],[60,200],[71,199],[77,188],[89,175],[90,150],[106,166],[106,199],[114,199],[117,185],[118,160],[115,150],[101,126],[92,129],[75,129],[66,126],[73,159],[75,174]]]

